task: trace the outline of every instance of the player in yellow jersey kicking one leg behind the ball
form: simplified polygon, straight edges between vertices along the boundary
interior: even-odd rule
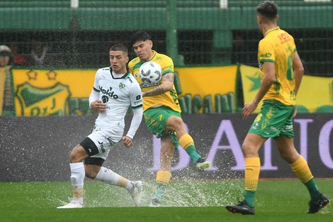
[[[200,170],[207,169],[210,162],[198,155],[193,138],[186,132],[174,87],[174,62],[170,57],[152,50],[152,40],[144,31],[132,35],[130,43],[137,57],[128,63],[128,67],[142,90],[145,123],[151,133],[161,138],[161,167],[157,172],[156,192],[150,204],[159,206],[166,185],[171,179],[171,160],[175,148],[181,145]],[[158,86],[147,87],[140,79],[140,66],[150,60],[162,67],[162,81]]]

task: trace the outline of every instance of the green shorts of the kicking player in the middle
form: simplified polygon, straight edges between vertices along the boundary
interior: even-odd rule
[[[181,117],[181,113],[170,109],[167,106],[158,106],[154,108],[147,109],[143,116],[145,117],[145,123],[149,131],[156,135],[157,138],[162,138],[164,135],[164,129],[166,126],[166,121],[170,116],[179,116]],[[178,148],[178,138],[175,132],[169,133],[174,146]]]

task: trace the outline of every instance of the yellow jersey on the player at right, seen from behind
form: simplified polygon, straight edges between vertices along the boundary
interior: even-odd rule
[[[275,82],[263,100],[273,99],[286,105],[295,105],[295,77],[293,53],[296,51],[293,36],[279,27],[269,30],[259,42],[258,61],[261,79],[264,77],[264,62],[275,63]]]

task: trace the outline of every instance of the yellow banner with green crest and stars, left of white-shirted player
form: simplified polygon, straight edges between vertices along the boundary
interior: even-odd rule
[[[95,73],[96,70],[13,70],[16,116],[86,113]]]

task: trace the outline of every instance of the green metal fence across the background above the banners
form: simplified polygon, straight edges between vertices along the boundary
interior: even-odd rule
[[[167,53],[176,48],[174,60],[179,66],[237,62],[256,66],[262,38],[256,25],[259,2],[1,0],[0,45],[21,55],[16,56],[16,67],[98,68],[108,65],[111,45],[128,45],[132,33],[147,30],[155,50]],[[278,25],[294,36],[306,74],[333,77],[333,2],[275,2]],[[174,17],[170,12],[176,12]],[[175,21],[171,28],[170,19]],[[167,45],[172,28],[176,41]]]

